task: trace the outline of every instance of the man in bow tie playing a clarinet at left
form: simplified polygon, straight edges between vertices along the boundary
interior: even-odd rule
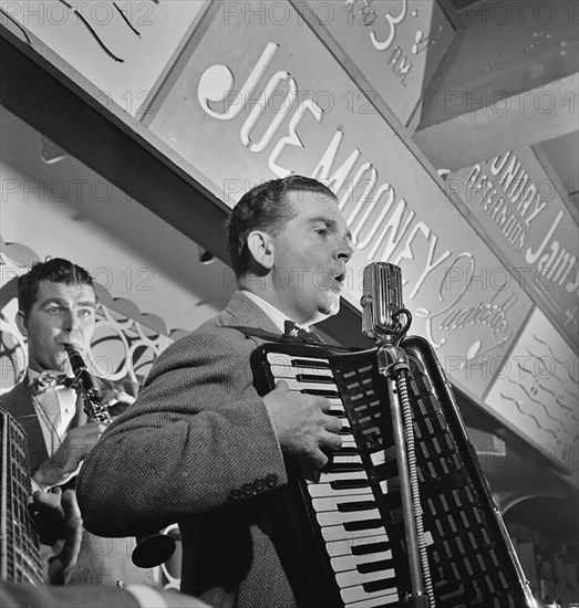
[[[17,324],[27,338],[28,369],[22,381],[2,396],[2,408],[24,428],[30,472],[35,490],[33,510],[41,541],[52,544],[50,513],[61,491],[74,489],[75,476],[107,423],[91,420],[80,395],[72,388],[73,370],[66,348],[86,353],[95,328],[97,298],[91,275],[60,258],[34,263],[18,280]],[[111,413],[120,413],[135,400],[133,382],[113,385],[94,377],[99,398]],[[51,495],[52,494],[52,495]],[[75,512],[74,491],[65,492],[65,512]],[[72,503],[74,504],[71,504]],[[46,577],[53,583],[121,584],[153,580],[151,570],[131,563],[130,538],[102,539],[83,532],[79,559],[62,568],[50,568],[60,555],[48,559]],[[58,572],[56,579],[52,570]],[[64,580],[60,576],[64,574]]]

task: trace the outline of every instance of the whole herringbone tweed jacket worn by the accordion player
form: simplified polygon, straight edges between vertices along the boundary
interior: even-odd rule
[[[293,594],[275,545],[288,478],[249,356],[279,334],[237,292],[214,319],[169,346],[137,401],[85,460],[77,493],[95,534],[179,523],[182,591],[219,608],[289,608]]]

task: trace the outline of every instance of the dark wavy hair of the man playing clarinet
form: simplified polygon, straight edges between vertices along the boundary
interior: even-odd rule
[[[46,262],[35,262],[18,279],[18,308],[28,319],[32,305],[37,301],[40,284],[64,283],[65,285],[89,285],[94,289],[92,276],[81,266],[63,258],[53,258]]]

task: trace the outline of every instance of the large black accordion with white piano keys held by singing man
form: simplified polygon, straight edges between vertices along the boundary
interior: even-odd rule
[[[525,608],[534,600],[437,358],[423,338],[402,340],[426,541],[431,608]],[[319,479],[287,461],[283,525],[275,543],[300,608],[409,606],[409,552],[386,380],[376,349],[266,344],[251,358],[263,395],[330,400],[342,448]],[[434,601],[433,601],[434,600]]]

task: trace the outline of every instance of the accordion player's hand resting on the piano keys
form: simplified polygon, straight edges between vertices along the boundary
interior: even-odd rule
[[[322,469],[328,463],[325,452],[339,450],[341,421],[329,416],[330,401],[324,397],[290,392],[280,380],[263,397],[281,449],[297,458],[304,469]]]

